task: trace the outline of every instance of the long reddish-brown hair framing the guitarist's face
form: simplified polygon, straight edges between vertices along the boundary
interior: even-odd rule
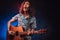
[[[19,12],[22,13],[22,14],[24,14],[23,6],[24,6],[25,2],[27,2],[27,1],[30,3],[30,7],[29,7],[29,10],[28,10],[28,14],[29,14],[31,17],[33,17],[33,16],[35,16],[35,10],[34,10],[33,6],[31,5],[31,2],[30,2],[29,0],[24,0],[24,1],[21,3],[21,5],[20,5],[20,7],[19,7]]]

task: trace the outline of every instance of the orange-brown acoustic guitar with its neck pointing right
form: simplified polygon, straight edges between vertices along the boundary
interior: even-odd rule
[[[9,33],[10,31],[11,33]],[[23,31],[23,28],[21,26],[18,26],[18,27],[11,26],[10,30],[7,31],[6,39],[7,40],[24,40],[24,35],[28,35],[27,33],[28,33],[27,31]],[[34,30],[34,32],[30,34],[43,34],[43,33],[46,33],[46,29],[40,29],[37,31]]]

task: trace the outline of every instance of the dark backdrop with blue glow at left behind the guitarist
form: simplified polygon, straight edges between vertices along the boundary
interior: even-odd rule
[[[22,1],[0,0],[0,40],[6,40],[7,22],[18,13],[18,7]],[[59,2],[56,0],[31,0],[31,4],[36,9],[36,29],[46,28],[48,31],[46,34],[32,35],[32,40],[58,40],[59,26],[56,23]],[[13,24],[16,25],[16,23]]]

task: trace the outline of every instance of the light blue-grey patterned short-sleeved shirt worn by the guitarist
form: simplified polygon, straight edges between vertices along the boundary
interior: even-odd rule
[[[21,14],[17,14],[14,17],[12,17],[12,19],[17,20],[18,21],[18,26],[22,26],[25,30],[28,27],[30,29],[31,28],[36,28],[36,18],[35,17],[31,17],[29,20],[26,20],[26,18]],[[29,27],[28,25],[31,24],[31,26]]]

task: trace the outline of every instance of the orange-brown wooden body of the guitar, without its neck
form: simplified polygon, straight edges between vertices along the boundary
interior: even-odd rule
[[[9,31],[18,32],[18,34],[11,35],[8,33]],[[20,37],[19,35],[19,32],[23,32],[23,28],[21,26],[11,26],[9,31],[7,32],[7,40],[24,40],[24,37]]]

